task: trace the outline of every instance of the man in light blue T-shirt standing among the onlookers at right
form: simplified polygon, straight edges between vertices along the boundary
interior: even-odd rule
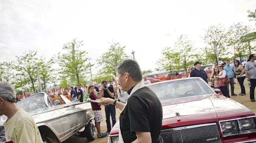
[[[224,70],[227,73],[228,78],[230,79],[230,86],[231,86],[231,95],[237,95],[234,93],[234,76],[235,76],[235,70],[234,70],[234,66],[230,65],[230,61],[226,61],[226,66],[224,66]],[[228,93],[229,93],[229,85],[228,85]]]

